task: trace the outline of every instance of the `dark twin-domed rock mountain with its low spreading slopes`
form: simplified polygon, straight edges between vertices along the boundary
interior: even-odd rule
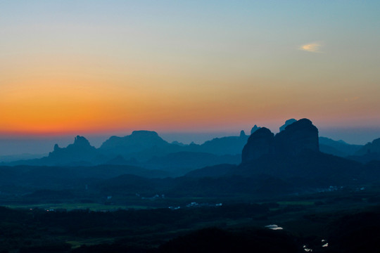
[[[189,176],[269,176],[292,186],[322,187],[368,181],[380,172],[374,169],[378,166],[376,163],[372,167],[363,166],[322,153],[318,129],[309,119],[293,122],[278,134],[265,127],[258,129],[248,138],[241,161],[235,167],[219,165],[191,171]]]

